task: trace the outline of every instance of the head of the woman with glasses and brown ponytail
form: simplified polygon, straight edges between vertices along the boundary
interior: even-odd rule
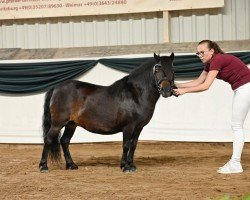
[[[209,62],[214,54],[223,54],[219,45],[211,40],[202,40],[197,47],[196,55],[199,56],[203,63]]]

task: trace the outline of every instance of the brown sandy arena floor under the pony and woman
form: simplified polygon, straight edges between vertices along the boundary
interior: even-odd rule
[[[144,142],[137,172],[122,173],[121,142],[72,144],[79,169],[49,163],[40,173],[42,145],[0,144],[0,199],[250,199],[250,143],[242,174],[216,173],[231,155],[230,143]]]

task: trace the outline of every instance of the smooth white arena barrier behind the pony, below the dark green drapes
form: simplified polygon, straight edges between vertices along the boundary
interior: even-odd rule
[[[151,56],[151,55],[143,55]],[[2,61],[3,62],[3,61]],[[101,64],[79,80],[109,85],[126,73]],[[165,141],[232,141],[230,119],[233,92],[230,86],[216,80],[209,91],[186,94],[178,98],[161,97],[154,116],[143,129],[141,140]],[[41,143],[44,94],[0,95],[0,143]],[[245,122],[246,140],[250,141],[250,114]],[[92,134],[82,128],[72,142],[122,140],[121,133],[112,136]]]

